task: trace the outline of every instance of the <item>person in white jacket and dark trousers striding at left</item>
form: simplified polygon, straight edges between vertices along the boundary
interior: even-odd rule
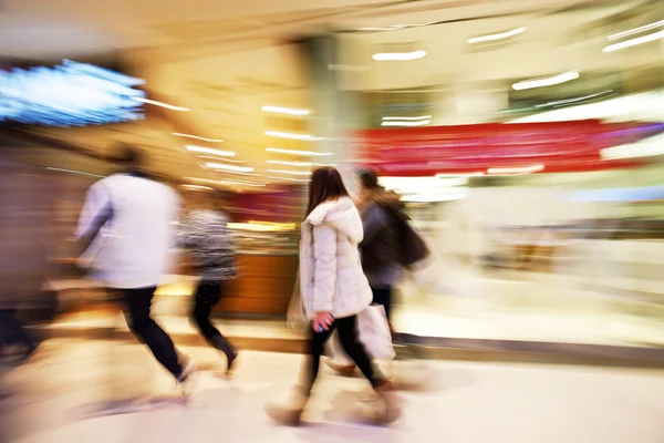
[[[139,151],[125,146],[123,171],[95,183],[85,196],[76,238],[82,247],[98,246],[95,277],[122,296],[132,332],[166,368],[185,393],[195,368],[178,356],[170,337],[152,318],[155,290],[170,265],[180,199],[170,187],[143,169]]]

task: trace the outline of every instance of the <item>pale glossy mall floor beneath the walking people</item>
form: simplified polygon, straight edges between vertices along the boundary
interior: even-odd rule
[[[46,342],[35,359],[4,373],[0,441],[60,442],[436,442],[662,443],[664,372],[587,367],[396,362],[418,385],[401,393],[405,414],[391,429],[359,423],[371,409],[361,379],[325,370],[301,429],[270,423],[262,408],[283,398],[300,357],[245,352],[235,380],[215,375],[217,354],[185,349],[208,371],[195,396],[138,344]],[[217,368],[218,369],[218,368]],[[141,396],[149,410],[86,418],[90,405]]]

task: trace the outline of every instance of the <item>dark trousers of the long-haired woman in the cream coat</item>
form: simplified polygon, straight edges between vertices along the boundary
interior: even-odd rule
[[[311,339],[309,341],[309,361],[304,380],[304,388],[309,392],[315,383],[315,379],[319,373],[321,364],[321,356],[325,343],[332,336],[334,330],[339,333],[341,346],[345,353],[355,362],[357,368],[362,371],[364,377],[371,382],[372,387],[378,387],[384,382],[382,377],[378,377],[371,364],[371,359],[364,344],[357,338],[357,316],[335,319],[334,323],[329,330],[323,332],[311,331]]]

